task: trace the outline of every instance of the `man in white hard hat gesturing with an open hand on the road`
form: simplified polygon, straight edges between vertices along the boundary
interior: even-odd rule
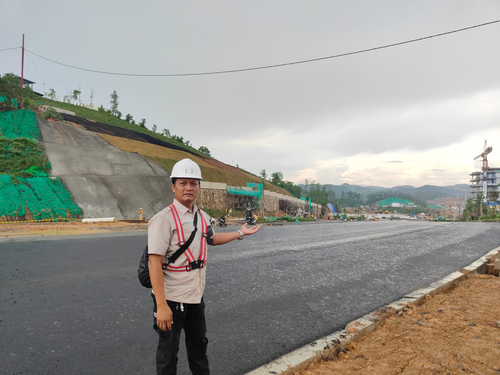
[[[173,203],[156,213],[147,225],[153,328],[159,336],[156,373],[173,375],[177,372],[180,332],[184,329],[191,373],[207,375],[208,340],[203,302],[207,244],[220,245],[242,239],[255,233],[260,226],[247,228],[244,224],[238,230],[214,234],[210,216],[194,204],[200,188],[199,166],[191,159],[182,159],[175,163],[170,177],[175,195]],[[189,247],[170,263],[168,258],[188,240],[193,230],[195,235]]]

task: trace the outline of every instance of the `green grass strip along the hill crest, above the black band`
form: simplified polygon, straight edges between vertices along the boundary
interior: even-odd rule
[[[166,142],[170,142],[170,143],[176,144],[176,145],[178,145],[180,147],[189,149],[189,150],[194,151],[196,153],[199,153],[199,151],[197,149],[195,149],[194,147],[186,146],[184,143],[181,143],[181,142],[179,142],[179,141],[177,141],[175,139],[168,138],[168,137],[166,137],[166,136],[164,136],[162,134],[159,134],[159,133],[155,133],[154,131],[149,130],[149,129],[145,128],[145,127],[140,127],[139,125],[134,125],[134,124],[132,124],[130,122],[127,122],[127,121],[125,121],[123,119],[120,119],[120,118],[118,118],[116,116],[113,116],[112,114],[109,114],[109,113],[106,113],[106,112],[100,112],[98,110],[94,110],[94,109],[90,109],[90,108],[85,108],[85,107],[80,107],[79,105],[74,105],[74,104],[70,104],[70,103],[64,103],[62,101],[55,101],[55,100],[52,100],[52,99],[48,99],[46,97],[40,97],[38,99],[38,101],[42,102],[43,104],[46,104],[46,105],[54,106],[56,108],[70,110],[70,111],[74,112],[75,116],[83,117],[83,118],[86,118],[86,119],[89,119],[89,120],[93,120],[93,121],[99,121],[99,122],[109,123],[111,125],[124,127],[125,129],[129,129],[129,130],[135,130],[135,131],[147,134],[147,135],[151,135],[151,136],[153,136],[155,138],[164,140]]]

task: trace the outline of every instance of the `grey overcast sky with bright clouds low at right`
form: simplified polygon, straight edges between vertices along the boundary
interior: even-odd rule
[[[500,19],[500,1],[3,1],[0,49],[123,73],[240,69],[330,56]],[[22,15],[22,20],[19,16]],[[500,166],[500,22],[268,69],[130,77],[30,55],[57,94],[78,88],[215,158],[301,183],[468,183],[484,139]],[[20,72],[0,51],[0,74]],[[29,59],[24,76],[42,91]],[[45,86],[46,88],[46,86]]]

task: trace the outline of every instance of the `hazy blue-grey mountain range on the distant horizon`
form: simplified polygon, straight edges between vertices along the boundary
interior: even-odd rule
[[[304,186],[303,184],[299,186]],[[420,200],[432,200],[436,198],[441,198],[441,197],[448,197],[448,196],[456,196],[456,190],[458,189],[459,197],[463,198],[464,197],[464,189],[469,190],[469,186],[465,183],[458,183],[455,185],[448,185],[448,186],[436,186],[436,185],[423,185],[420,187],[415,187],[411,185],[402,185],[402,186],[393,186],[393,187],[383,187],[383,186],[360,186],[360,185],[351,185],[348,183],[342,183],[341,185],[332,185],[332,184],[326,184],[326,185],[321,185],[326,186],[326,189],[331,189],[331,191],[335,192],[335,196],[340,197],[340,194],[342,190],[344,192],[352,191],[352,192],[360,192],[363,194],[363,196],[366,196],[374,191],[379,191],[379,190],[386,190],[386,189],[391,189],[391,190],[397,190],[400,192],[408,193],[412,195],[416,199]]]

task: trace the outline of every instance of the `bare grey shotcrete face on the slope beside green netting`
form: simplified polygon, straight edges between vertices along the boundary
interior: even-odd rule
[[[84,217],[152,217],[173,200],[170,175],[74,125],[38,118],[52,175],[67,185]]]

